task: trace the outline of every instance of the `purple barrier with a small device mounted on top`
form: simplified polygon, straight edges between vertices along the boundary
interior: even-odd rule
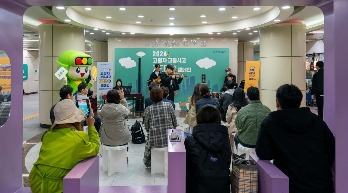
[[[184,193],[186,182],[186,149],[180,129],[174,129],[181,141],[169,141],[168,129],[168,193]]]

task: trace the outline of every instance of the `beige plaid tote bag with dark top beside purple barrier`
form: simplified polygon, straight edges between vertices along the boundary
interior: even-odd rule
[[[253,160],[246,160],[245,153],[240,156],[234,153],[232,156],[231,192],[258,192],[258,166]]]

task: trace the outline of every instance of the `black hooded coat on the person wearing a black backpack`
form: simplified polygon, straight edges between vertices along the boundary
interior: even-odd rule
[[[184,144],[186,149],[186,192],[205,193],[214,188],[214,192],[220,193],[220,187],[215,184],[199,184],[197,158],[204,149],[221,152],[221,156],[227,161],[228,168],[226,169],[229,170],[232,151],[227,127],[216,123],[198,124],[193,127],[192,135],[185,138]],[[228,184],[228,186],[230,185]],[[207,191],[198,191],[202,189]]]

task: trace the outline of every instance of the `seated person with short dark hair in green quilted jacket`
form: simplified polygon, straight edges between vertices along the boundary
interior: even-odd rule
[[[240,143],[245,147],[255,148],[261,121],[271,110],[261,104],[260,92],[257,87],[249,87],[246,93],[250,102],[238,111],[235,120],[238,133],[235,135],[234,141],[236,147]]]

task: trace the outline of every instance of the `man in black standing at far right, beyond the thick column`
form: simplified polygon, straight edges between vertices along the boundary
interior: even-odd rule
[[[316,64],[318,72],[313,75],[312,79],[312,90],[311,95],[312,99],[315,98],[317,100],[318,107],[318,116],[320,118],[324,118],[323,108],[324,108],[324,62],[318,61]]]

